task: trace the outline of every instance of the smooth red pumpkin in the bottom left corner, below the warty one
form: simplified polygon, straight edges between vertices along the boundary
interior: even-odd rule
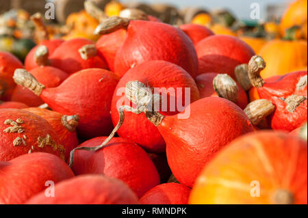
[[[64,161],[53,154],[23,154],[0,162],[0,204],[23,204],[50,185],[74,176]],[[51,197],[52,198],[52,197]]]

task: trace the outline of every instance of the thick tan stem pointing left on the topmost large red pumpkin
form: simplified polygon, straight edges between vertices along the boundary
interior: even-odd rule
[[[94,34],[104,35],[112,33],[118,29],[127,29],[129,21],[131,20],[128,18],[121,18],[118,16],[112,16],[110,18],[106,18],[97,26],[97,29],[94,30]]]

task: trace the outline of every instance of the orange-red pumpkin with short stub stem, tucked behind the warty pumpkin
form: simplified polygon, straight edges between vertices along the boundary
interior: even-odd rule
[[[25,109],[31,113],[39,115],[49,124],[57,133],[60,143],[65,149],[65,159],[68,159],[70,151],[78,146],[79,140],[77,138],[76,127],[78,126],[79,115],[63,115],[55,111],[49,111],[39,107],[29,107]]]

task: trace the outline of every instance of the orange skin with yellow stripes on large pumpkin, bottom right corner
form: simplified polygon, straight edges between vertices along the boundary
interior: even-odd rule
[[[256,182],[260,195],[252,197]],[[205,166],[189,203],[277,204],[277,189],[290,191],[294,204],[307,204],[307,142],[258,131],[235,139]]]

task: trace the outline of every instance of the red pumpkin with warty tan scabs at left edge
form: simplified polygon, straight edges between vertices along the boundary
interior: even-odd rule
[[[0,161],[28,152],[48,152],[65,159],[64,146],[53,127],[40,116],[21,109],[0,109]]]

